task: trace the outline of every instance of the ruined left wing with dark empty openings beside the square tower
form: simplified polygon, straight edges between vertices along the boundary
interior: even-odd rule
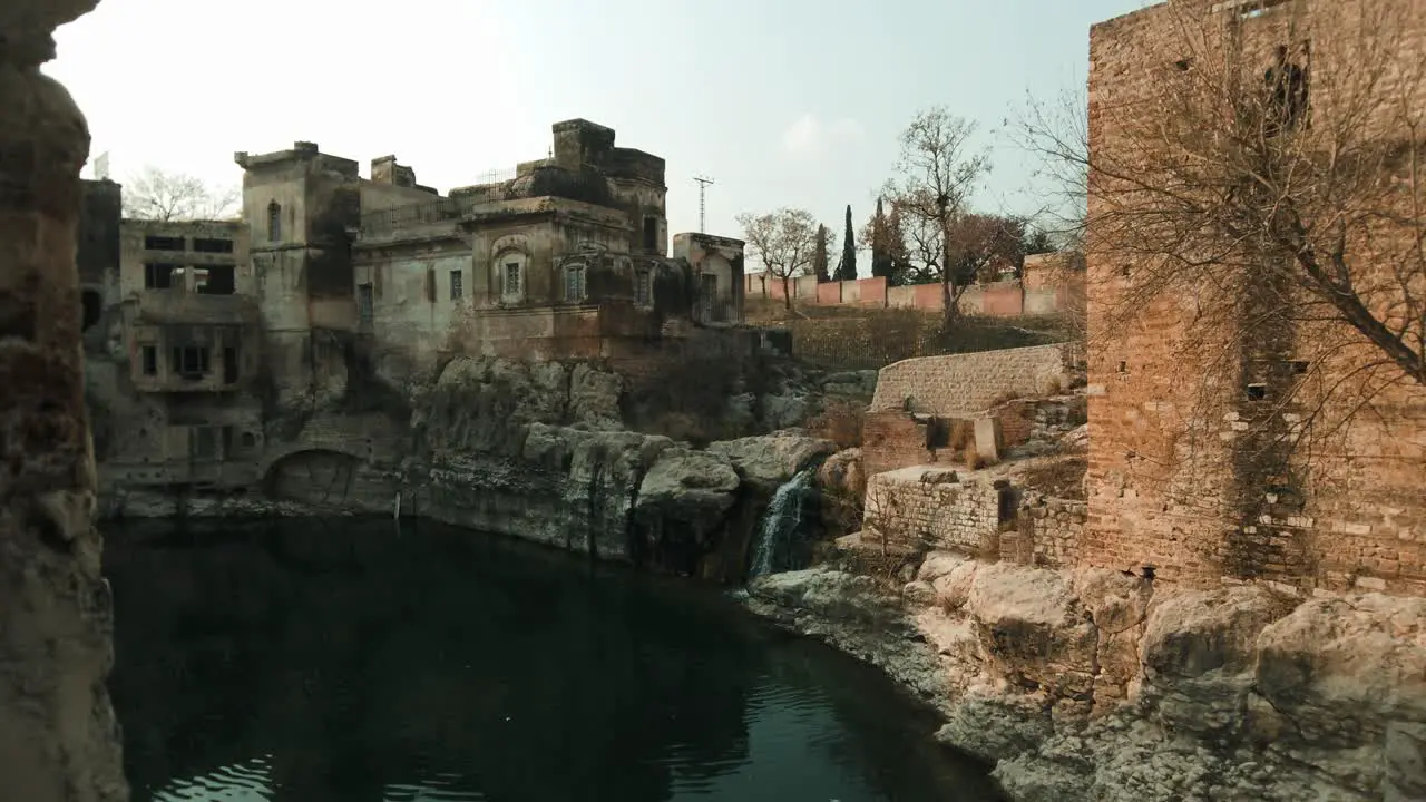
[[[242,488],[261,478],[262,321],[238,221],[121,220],[86,181],[86,385],[101,485]],[[97,200],[96,200],[97,198]]]

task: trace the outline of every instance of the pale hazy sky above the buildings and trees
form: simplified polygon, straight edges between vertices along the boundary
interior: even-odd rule
[[[121,183],[155,166],[237,186],[235,151],[305,140],[364,176],[395,154],[445,193],[545,157],[550,124],[583,117],[667,160],[670,233],[699,230],[706,176],[707,233],[800,207],[840,243],[846,205],[860,227],[933,106],[978,124],[977,207],[1035,208],[1007,120],[1082,87],[1089,26],[1145,4],[103,0],[57,31],[46,71]]]

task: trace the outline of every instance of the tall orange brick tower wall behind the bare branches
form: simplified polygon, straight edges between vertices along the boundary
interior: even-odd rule
[[[1396,23],[1368,30],[1393,10]],[[1393,44],[1372,86],[1390,100],[1378,110],[1399,101],[1419,110],[1426,84],[1407,78],[1426,53],[1426,21],[1412,0],[1171,0],[1101,23],[1091,34],[1091,153],[1119,166],[1141,158],[1145,116],[1172,113],[1161,101],[1165,87],[1209,67],[1241,68],[1249,91],[1266,80],[1269,104],[1292,108],[1268,114],[1276,121],[1262,137],[1269,147],[1298,147],[1286,137],[1309,130],[1312,114],[1326,126],[1360,101],[1346,93],[1368,86],[1363,43],[1386,37]],[[1275,76],[1296,80],[1283,94]],[[1383,153],[1409,150],[1397,120],[1370,111],[1353,126]],[[1406,187],[1397,167],[1376,163],[1375,177]],[[1094,245],[1105,235],[1095,227],[1111,211],[1104,187],[1112,180],[1091,176],[1101,188],[1089,194],[1089,524],[1081,559],[1189,585],[1426,592],[1420,384],[1387,367],[1369,385],[1360,367],[1380,354],[1350,327],[1282,304],[1296,290],[1255,253],[1226,257],[1241,260],[1229,284],[1175,288],[1125,318],[1125,303],[1138,305],[1137,281],[1151,281],[1161,257]],[[1380,203],[1395,201],[1383,194]],[[1373,237],[1352,243],[1362,287],[1380,285],[1396,264],[1386,255],[1393,238],[1409,243],[1402,228]],[[1419,278],[1363,297],[1387,314]],[[1208,308],[1235,311],[1214,317]],[[1353,405],[1368,411],[1353,414]]]

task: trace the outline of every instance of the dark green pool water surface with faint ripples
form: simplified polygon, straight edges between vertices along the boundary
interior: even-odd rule
[[[706,588],[389,521],[110,528],[135,802],[995,799]]]

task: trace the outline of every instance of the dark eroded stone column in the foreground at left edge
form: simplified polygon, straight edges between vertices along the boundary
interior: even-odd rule
[[[0,801],[128,798],[74,265],[90,137],[40,74],[97,3],[0,1]]]

